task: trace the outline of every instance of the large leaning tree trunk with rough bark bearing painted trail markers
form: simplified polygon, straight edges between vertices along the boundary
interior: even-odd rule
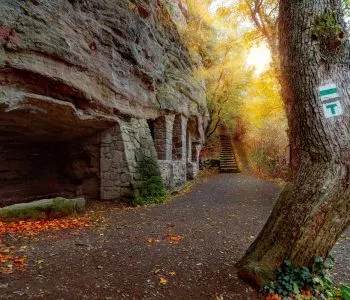
[[[327,15],[336,16],[340,31],[334,26],[325,39],[315,33]],[[327,256],[350,224],[349,44],[341,1],[281,0],[279,30],[294,179],[239,262],[240,276],[257,286],[286,259],[308,265]],[[342,116],[325,118],[318,87],[329,83],[338,87]]]

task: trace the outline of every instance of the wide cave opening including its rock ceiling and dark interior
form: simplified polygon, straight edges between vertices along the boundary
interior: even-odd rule
[[[115,121],[63,101],[11,95],[0,103],[0,207],[56,196],[99,199],[101,132]]]

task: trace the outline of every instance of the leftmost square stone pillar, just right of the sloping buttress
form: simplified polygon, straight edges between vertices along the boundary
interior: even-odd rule
[[[154,145],[158,160],[172,159],[173,124],[175,116],[161,116],[154,122]]]

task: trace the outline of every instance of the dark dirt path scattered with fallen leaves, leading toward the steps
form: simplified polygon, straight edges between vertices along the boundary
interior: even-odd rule
[[[280,189],[241,174],[202,181],[164,205],[109,206],[102,213],[105,222],[93,228],[37,240],[8,238],[25,245],[29,265],[23,273],[0,275],[0,298],[260,299],[237,279],[234,264],[263,226]],[[344,258],[348,240],[338,248],[336,257]],[[349,266],[347,259],[340,260],[342,266]],[[341,276],[349,274],[338,269]]]

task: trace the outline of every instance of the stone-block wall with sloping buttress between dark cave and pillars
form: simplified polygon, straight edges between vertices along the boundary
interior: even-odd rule
[[[157,161],[147,120],[119,120],[102,133],[101,199],[129,200],[140,186],[140,168]]]

